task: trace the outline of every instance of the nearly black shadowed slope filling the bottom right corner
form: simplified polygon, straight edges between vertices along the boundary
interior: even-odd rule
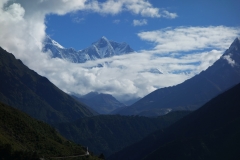
[[[113,160],[236,160],[240,157],[240,84],[167,129],[113,154]]]

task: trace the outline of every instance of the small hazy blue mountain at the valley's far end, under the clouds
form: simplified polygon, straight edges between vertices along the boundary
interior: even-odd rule
[[[108,114],[115,109],[125,106],[112,95],[98,92],[90,92],[84,96],[76,97],[76,99],[88,105],[99,114]]]

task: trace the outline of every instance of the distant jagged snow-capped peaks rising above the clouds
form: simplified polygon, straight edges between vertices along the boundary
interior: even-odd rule
[[[49,36],[43,42],[43,51],[51,52],[52,58],[62,58],[73,63],[84,63],[89,60],[102,59],[115,55],[123,55],[134,52],[127,43],[109,41],[106,37],[100,38],[97,42],[86,49],[76,51],[73,48],[64,48]]]

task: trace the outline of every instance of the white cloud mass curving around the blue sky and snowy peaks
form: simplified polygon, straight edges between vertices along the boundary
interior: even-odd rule
[[[239,28],[225,26],[141,32],[139,38],[152,43],[151,50],[85,64],[52,59],[42,53],[47,27],[45,16],[78,10],[112,15],[127,11],[142,17],[177,17],[175,13],[153,7],[146,0],[107,0],[102,3],[95,0],[2,0],[0,46],[65,92],[86,94],[98,91],[126,100],[142,97],[157,88],[176,85],[206,69],[240,34]],[[104,67],[94,67],[99,63]],[[156,70],[159,73],[152,72]]]

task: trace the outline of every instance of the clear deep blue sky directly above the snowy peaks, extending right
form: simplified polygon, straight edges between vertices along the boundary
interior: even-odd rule
[[[150,0],[153,7],[176,13],[176,18],[143,17],[127,11],[116,15],[77,11],[63,16],[46,16],[46,33],[66,48],[88,47],[102,36],[116,42],[127,42],[138,51],[150,49],[151,43],[138,33],[178,26],[240,26],[239,0]],[[134,26],[133,21],[145,21]]]

